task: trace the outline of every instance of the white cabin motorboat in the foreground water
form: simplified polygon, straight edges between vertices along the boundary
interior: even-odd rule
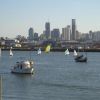
[[[33,61],[29,60],[16,62],[16,64],[11,69],[12,73],[18,74],[32,74],[33,71]]]

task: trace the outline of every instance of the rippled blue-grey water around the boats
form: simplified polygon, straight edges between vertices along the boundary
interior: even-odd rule
[[[34,60],[33,75],[10,73],[16,61]],[[2,100],[100,100],[100,53],[87,53],[87,63],[76,63],[72,54],[3,51],[0,58]]]

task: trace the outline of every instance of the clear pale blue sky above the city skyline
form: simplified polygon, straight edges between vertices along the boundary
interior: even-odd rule
[[[0,0],[0,37],[28,36],[32,27],[39,34],[50,22],[51,30],[71,25],[88,33],[100,30],[100,0]]]

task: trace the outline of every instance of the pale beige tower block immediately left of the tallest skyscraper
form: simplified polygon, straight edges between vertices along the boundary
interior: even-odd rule
[[[62,40],[69,41],[71,39],[71,29],[70,25],[65,28],[62,28]]]

